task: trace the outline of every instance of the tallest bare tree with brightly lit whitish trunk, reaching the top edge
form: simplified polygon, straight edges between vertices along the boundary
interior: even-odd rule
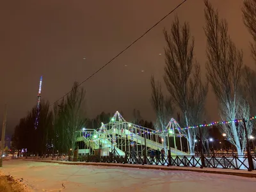
[[[236,120],[250,116],[250,106],[241,94],[241,70],[243,52],[228,36],[226,20],[221,20],[218,11],[205,0],[205,35],[207,36],[207,77],[218,99],[220,116],[223,121]],[[252,125],[247,122],[248,134]],[[228,141],[236,146],[237,153],[243,155],[246,139],[243,124],[221,125]]]

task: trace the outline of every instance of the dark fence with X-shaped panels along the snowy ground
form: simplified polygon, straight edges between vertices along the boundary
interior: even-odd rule
[[[252,156],[252,159],[254,165],[253,170],[255,170],[256,156]],[[127,154],[126,156],[81,156],[77,157],[76,161],[250,170],[247,156],[204,156],[204,159],[202,159],[201,156],[172,156],[162,158]]]

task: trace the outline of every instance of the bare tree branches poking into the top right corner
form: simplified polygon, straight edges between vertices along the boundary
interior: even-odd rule
[[[253,38],[253,42],[251,42],[250,45],[252,56],[256,64],[256,0],[244,0],[242,11],[244,24]]]

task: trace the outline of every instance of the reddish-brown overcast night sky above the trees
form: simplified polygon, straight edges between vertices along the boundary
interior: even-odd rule
[[[74,81],[86,79],[180,2],[182,0],[2,1],[0,122],[2,124],[4,103],[8,103],[6,132],[13,132],[19,119],[36,104],[40,76],[43,76],[42,99],[52,103],[67,93]],[[244,63],[253,66],[250,35],[243,25],[240,9],[243,0],[211,2],[221,17],[228,20],[230,36],[244,51]],[[191,34],[195,36],[196,58],[205,72],[203,0],[188,0],[175,13],[181,22],[189,22]],[[162,31],[164,27],[170,28],[174,16],[170,15],[83,84],[90,118],[100,111],[119,110],[124,111],[124,117],[129,120],[132,109],[136,108],[143,118],[154,120],[150,76],[154,74],[163,81]],[[207,113],[207,120],[218,120],[211,92]]]

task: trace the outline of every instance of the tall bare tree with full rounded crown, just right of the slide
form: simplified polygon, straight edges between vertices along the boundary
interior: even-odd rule
[[[168,92],[182,112],[186,127],[198,125],[208,84],[201,81],[200,65],[194,58],[194,38],[190,36],[188,23],[180,26],[178,17],[175,17],[170,33],[164,29],[164,38],[167,44],[164,81]],[[194,154],[196,129],[186,129],[182,134],[189,142],[190,153]]]

